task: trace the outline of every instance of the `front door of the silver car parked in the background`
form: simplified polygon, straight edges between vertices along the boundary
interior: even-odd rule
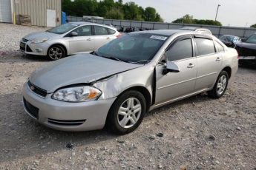
[[[92,52],[94,49],[94,38],[92,35],[91,25],[85,25],[76,28],[72,32],[76,32],[77,36],[68,35],[68,41],[70,46],[70,54],[76,52]]]

